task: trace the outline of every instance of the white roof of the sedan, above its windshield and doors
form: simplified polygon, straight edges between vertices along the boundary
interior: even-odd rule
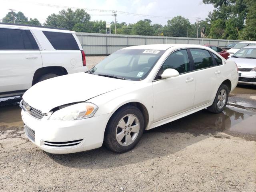
[[[149,50],[167,50],[168,48],[207,48],[202,45],[194,45],[194,44],[150,44],[150,45],[138,45],[138,46],[130,46],[123,49],[149,49]]]

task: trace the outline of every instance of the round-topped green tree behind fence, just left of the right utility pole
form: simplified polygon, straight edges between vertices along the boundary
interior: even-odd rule
[[[189,26],[190,22],[188,19],[182,16],[176,16],[171,20],[168,20],[167,25],[164,26],[164,28],[168,31],[168,36],[186,37]]]

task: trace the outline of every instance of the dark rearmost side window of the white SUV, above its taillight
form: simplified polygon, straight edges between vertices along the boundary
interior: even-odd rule
[[[56,50],[80,50],[71,33],[43,31],[46,38]]]

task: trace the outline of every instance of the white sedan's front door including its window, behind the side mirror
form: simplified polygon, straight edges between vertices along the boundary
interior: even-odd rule
[[[161,78],[160,74],[173,68],[180,75],[172,78]],[[154,82],[154,122],[190,110],[194,102],[194,72],[186,49],[178,50],[168,56],[161,66]]]

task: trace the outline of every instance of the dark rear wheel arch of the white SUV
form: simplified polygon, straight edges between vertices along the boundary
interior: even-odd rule
[[[48,73],[54,73],[59,76],[68,74],[67,70],[62,66],[42,67],[42,68],[37,69],[36,72],[34,73],[33,80],[32,80],[32,86],[36,83],[38,78],[40,78],[42,75],[48,74]]]

